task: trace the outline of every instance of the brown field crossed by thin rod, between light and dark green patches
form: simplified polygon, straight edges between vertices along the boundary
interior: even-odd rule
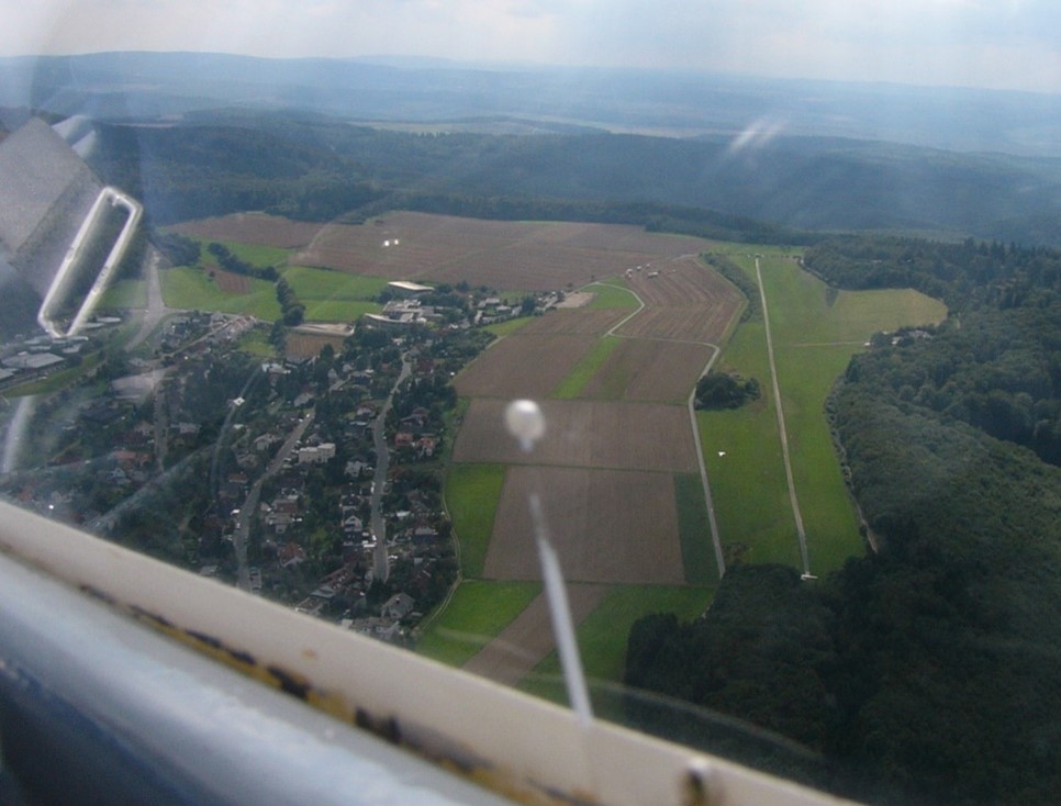
[[[572,582],[684,584],[670,473],[511,468],[485,576],[541,576],[527,497],[541,499],[549,536]]]

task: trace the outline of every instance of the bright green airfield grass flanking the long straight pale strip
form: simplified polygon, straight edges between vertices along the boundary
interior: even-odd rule
[[[779,253],[761,253],[792,471],[811,570],[823,573],[861,549],[858,522],[833,449],[825,400],[851,356],[876,331],[937,322],[942,303],[914,291],[830,292]],[[755,279],[755,260],[735,261]],[[723,369],[753,376],[763,396],[734,412],[699,414],[704,458],[727,560],[800,568],[761,320],[742,324]]]

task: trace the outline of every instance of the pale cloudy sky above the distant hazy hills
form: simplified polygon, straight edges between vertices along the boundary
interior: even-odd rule
[[[1061,0],[0,0],[0,55],[425,56],[1061,93]]]

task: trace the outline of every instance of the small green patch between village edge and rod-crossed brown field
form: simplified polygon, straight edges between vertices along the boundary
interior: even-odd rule
[[[460,570],[466,579],[482,575],[504,479],[502,464],[454,464],[449,468],[446,507],[460,540]]]

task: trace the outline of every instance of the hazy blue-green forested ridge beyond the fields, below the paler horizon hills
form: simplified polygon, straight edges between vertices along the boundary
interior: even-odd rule
[[[773,243],[882,228],[1061,244],[1061,222],[1042,219],[1061,201],[1061,164],[1047,159],[815,137],[739,149],[722,137],[409,134],[236,111],[100,134],[94,167],[159,224],[248,209],[326,220],[388,204],[499,217],[545,205],[682,231],[707,220],[714,231],[692,231]]]

